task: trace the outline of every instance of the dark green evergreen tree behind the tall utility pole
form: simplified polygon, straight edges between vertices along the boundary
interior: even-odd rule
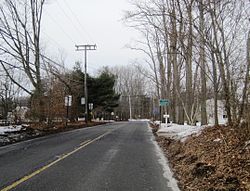
[[[73,96],[71,113],[75,117],[82,116],[84,113],[84,107],[80,101],[81,97],[84,97],[84,75],[79,63],[71,73],[67,74],[69,79],[67,94]],[[93,103],[93,111],[100,117],[103,117],[103,113],[110,114],[118,106],[120,95],[114,90],[115,82],[116,76],[108,68],[104,68],[97,77],[87,74],[88,103]]]

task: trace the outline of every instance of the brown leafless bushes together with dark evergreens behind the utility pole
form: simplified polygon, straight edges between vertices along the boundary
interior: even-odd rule
[[[78,118],[86,117],[84,109],[86,103],[81,102],[84,98],[84,76],[80,63],[77,63],[72,71],[62,73],[60,78],[53,76],[51,79],[46,79],[45,92],[42,97],[39,97],[44,104],[39,108],[39,100],[31,97],[31,116],[29,117],[48,122],[66,119],[65,97],[69,95],[72,96],[72,102],[68,105],[68,118],[71,121],[77,121]],[[120,95],[114,90],[115,80],[116,76],[107,68],[94,77],[87,74],[88,104],[93,105],[93,108],[88,106],[88,115],[92,118],[101,119],[109,116],[118,106]]]

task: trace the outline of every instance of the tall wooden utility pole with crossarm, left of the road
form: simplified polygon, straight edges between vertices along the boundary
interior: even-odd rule
[[[87,51],[96,50],[96,45],[75,45],[76,51],[84,51],[84,96],[85,96],[85,122],[88,123],[88,89],[87,89]]]

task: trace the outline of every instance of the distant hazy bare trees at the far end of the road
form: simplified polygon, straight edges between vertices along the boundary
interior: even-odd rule
[[[152,113],[149,80],[139,65],[115,66],[111,68],[117,76],[116,91],[120,94],[117,114],[123,118],[149,118]],[[150,96],[149,96],[150,95]]]

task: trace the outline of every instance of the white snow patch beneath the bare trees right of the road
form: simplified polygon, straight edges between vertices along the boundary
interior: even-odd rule
[[[199,134],[205,126],[191,126],[178,124],[161,124],[157,131],[159,136],[165,136],[176,140],[185,141],[192,134]]]

